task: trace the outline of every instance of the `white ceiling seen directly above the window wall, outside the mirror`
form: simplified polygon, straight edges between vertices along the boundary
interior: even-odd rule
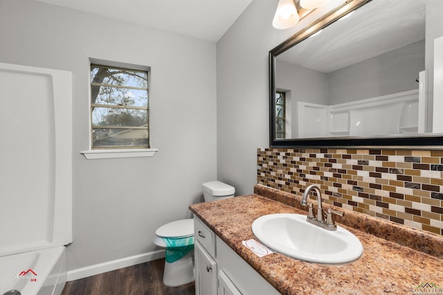
[[[217,42],[252,0],[37,0]]]

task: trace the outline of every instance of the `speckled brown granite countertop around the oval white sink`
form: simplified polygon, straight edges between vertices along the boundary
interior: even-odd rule
[[[322,265],[280,253],[259,258],[242,245],[243,240],[255,239],[251,224],[257,217],[272,213],[306,214],[293,205],[297,198],[295,195],[282,198],[278,191],[256,187],[254,195],[193,204],[190,210],[282,294],[411,294],[411,289],[421,283],[443,286],[443,238],[440,235],[406,229],[410,233],[401,235],[408,241],[406,244],[410,247],[407,247],[389,238],[397,239],[395,232],[404,229],[398,230],[390,222],[388,226],[386,222],[377,224],[379,221],[375,218],[364,217],[363,222],[372,223],[369,232],[377,231],[378,227],[383,231],[384,238],[380,238],[365,232],[361,219],[355,226],[359,229],[345,225],[357,223],[355,218],[358,220],[360,214],[341,208],[335,209],[349,216],[337,224],[354,233],[364,249],[362,256],[350,264]],[[316,206],[316,202],[313,203]],[[419,251],[422,248],[424,251]]]

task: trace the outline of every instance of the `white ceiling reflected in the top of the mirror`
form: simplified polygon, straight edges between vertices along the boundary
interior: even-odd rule
[[[309,69],[331,73],[425,37],[429,0],[372,0],[347,19],[305,39],[278,56]]]

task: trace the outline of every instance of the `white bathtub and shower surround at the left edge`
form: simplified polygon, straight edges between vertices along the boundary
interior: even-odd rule
[[[71,73],[0,63],[0,294],[61,294],[72,242]]]

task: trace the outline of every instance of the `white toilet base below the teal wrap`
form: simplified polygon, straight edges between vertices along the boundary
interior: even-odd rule
[[[172,263],[165,261],[163,284],[168,287],[177,287],[194,280],[194,251],[190,251],[183,258]]]

